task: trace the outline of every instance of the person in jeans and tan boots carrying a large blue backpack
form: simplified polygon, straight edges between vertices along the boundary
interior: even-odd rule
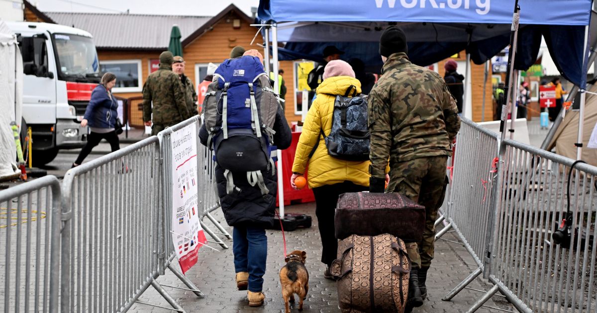
[[[220,64],[203,103],[201,143],[214,150],[216,184],[226,222],[233,227],[236,287],[261,306],[267,237],[278,182],[273,145],[290,147],[292,133],[256,50]]]

